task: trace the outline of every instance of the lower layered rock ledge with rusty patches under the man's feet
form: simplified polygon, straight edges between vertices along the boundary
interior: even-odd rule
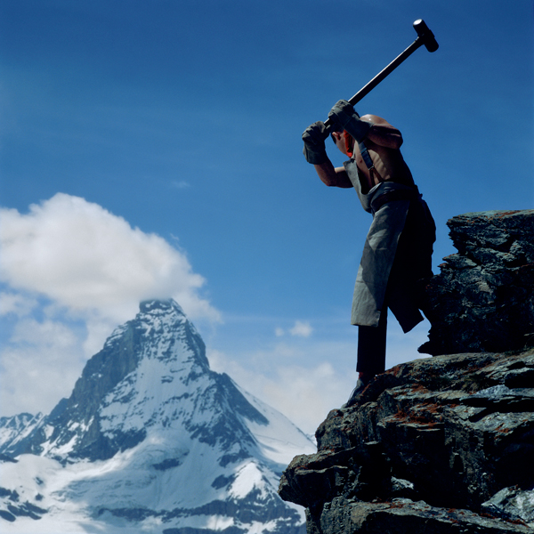
[[[309,534],[534,528],[534,350],[415,360],[332,410],[280,497]]]

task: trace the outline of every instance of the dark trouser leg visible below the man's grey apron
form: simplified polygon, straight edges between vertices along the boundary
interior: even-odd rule
[[[385,338],[387,332],[387,306],[380,313],[377,327],[358,327],[359,373],[379,375],[385,370]]]

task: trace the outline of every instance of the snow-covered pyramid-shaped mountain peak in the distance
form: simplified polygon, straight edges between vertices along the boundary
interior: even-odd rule
[[[48,416],[0,421],[4,532],[305,531],[278,494],[315,446],[209,368],[174,301],[141,304]]]

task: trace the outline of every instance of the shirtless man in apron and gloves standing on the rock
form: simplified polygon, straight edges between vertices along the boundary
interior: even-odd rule
[[[435,224],[402,158],[397,128],[375,115],[360,117],[348,101],[338,101],[328,118],[332,139],[350,159],[343,167],[332,165],[322,122],[304,131],[304,156],[326,185],[354,187],[363,208],[373,214],[352,298],[359,378],[348,407],[385,370],[387,309],[405,333],[423,320],[422,280],[433,274]]]

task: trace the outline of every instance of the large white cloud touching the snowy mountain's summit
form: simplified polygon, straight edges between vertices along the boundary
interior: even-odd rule
[[[84,198],[58,193],[28,214],[2,209],[0,223],[0,279],[14,289],[116,320],[169,296],[192,318],[219,317],[182,251]]]

